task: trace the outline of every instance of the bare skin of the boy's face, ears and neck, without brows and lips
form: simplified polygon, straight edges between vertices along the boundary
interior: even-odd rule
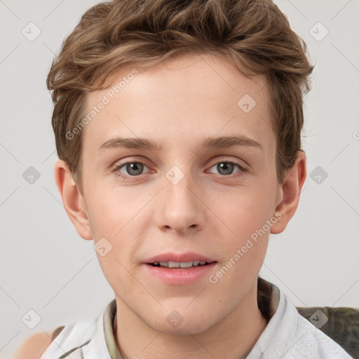
[[[116,73],[121,81],[131,68]],[[90,93],[86,114],[106,90]],[[238,100],[257,102],[248,113]],[[257,276],[269,233],[281,233],[294,215],[306,178],[306,155],[276,177],[276,137],[262,76],[244,76],[225,57],[189,54],[140,71],[83,129],[83,194],[64,161],[55,165],[62,201],[79,235],[112,249],[97,257],[117,306],[116,343],[123,358],[240,358],[266,327],[257,306]],[[198,151],[204,137],[245,135],[262,144]],[[107,140],[146,137],[149,149],[98,149]],[[121,160],[121,161],[120,161]],[[144,162],[130,176],[122,161]],[[219,163],[235,161],[229,175]],[[173,165],[184,177],[172,184]],[[137,172],[137,173],[138,173]],[[239,175],[238,175],[239,174]],[[236,176],[237,175],[237,176]],[[144,270],[144,259],[164,252],[196,252],[215,259],[212,273],[241,249],[266,220],[281,217],[217,283],[168,285]],[[183,318],[172,327],[172,311]]]

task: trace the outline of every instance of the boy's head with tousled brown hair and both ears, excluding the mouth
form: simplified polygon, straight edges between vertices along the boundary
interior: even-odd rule
[[[116,299],[151,327],[202,332],[257,283],[306,177],[312,70],[267,0],[105,2],[63,43],[47,79],[57,187],[79,235],[107,248]],[[164,284],[146,262],[164,252],[215,264]],[[182,329],[165,320],[174,310]]]

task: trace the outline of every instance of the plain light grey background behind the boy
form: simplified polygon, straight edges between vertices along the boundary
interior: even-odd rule
[[[78,236],[55,185],[45,83],[62,40],[97,3],[0,0],[1,358],[34,332],[99,315],[114,297],[93,242]],[[316,68],[305,99],[307,179],[296,215],[283,233],[271,235],[260,274],[297,306],[358,307],[359,1],[276,4]],[[33,41],[22,34],[29,22],[41,30]],[[323,39],[318,22],[329,31]],[[30,166],[40,175],[32,184],[23,177]],[[25,325],[36,320],[29,310],[41,317],[33,329]]]

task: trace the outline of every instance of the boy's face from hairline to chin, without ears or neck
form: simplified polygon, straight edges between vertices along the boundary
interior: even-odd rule
[[[203,332],[256,287],[276,219],[268,89],[212,55],[131,70],[113,81],[125,77],[121,91],[111,85],[86,104],[88,114],[109,100],[83,128],[83,203],[104,248],[97,257],[122,309],[163,332]],[[121,146],[120,137],[134,140]],[[208,264],[151,264],[198,261]]]

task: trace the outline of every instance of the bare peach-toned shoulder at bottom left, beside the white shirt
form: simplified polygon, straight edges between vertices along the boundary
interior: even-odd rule
[[[39,332],[28,337],[15,352],[13,359],[39,359],[63,328],[57,327],[52,334]]]

